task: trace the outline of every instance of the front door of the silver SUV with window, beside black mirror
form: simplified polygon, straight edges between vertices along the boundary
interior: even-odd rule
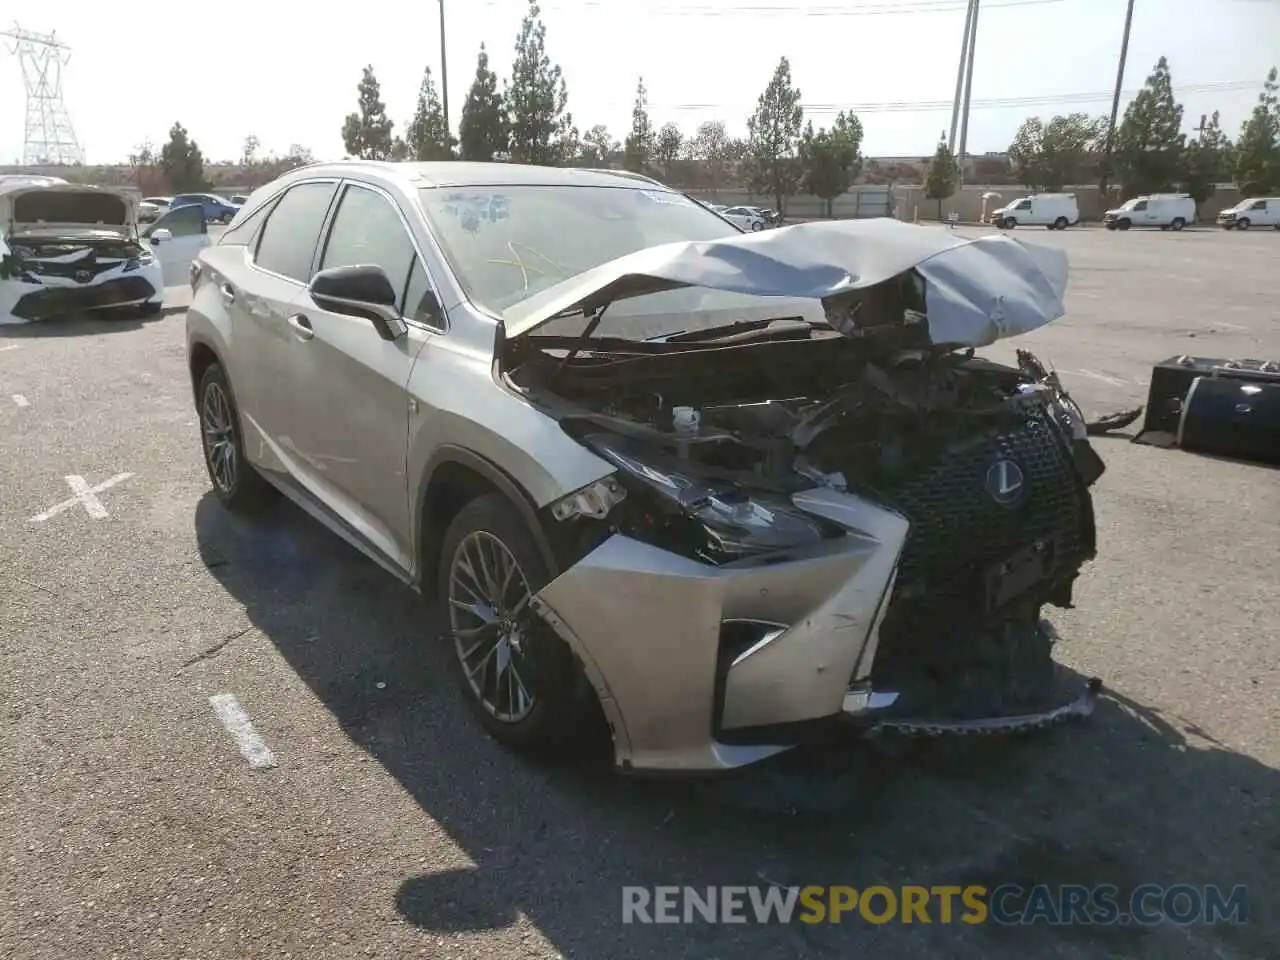
[[[384,340],[369,320],[321,310],[303,292],[292,306],[300,329],[283,365],[296,398],[285,426],[311,493],[389,561],[411,570],[406,388],[442,317],[399,205],[370,184],[348,182],[317,269],[365,264],[383,268],[401,292],[408,334]]]

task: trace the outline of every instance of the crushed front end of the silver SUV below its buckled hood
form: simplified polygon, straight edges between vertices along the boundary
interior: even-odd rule
[[[1034,357],[934,346],[925,306],[906,274],[826,323],[506,352],[509,387],[616,467],[548,508],[563,572],[535,608],[622,767],[1091,712],[1042,613],[1096,553],[1102,462]]]

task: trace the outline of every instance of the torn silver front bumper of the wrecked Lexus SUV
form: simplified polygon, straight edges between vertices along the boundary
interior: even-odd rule
[[[831,489],[795,504],[847,535],[712,567],[614,534],[535,596],[595,687],[620,767],[723,771],[835,728],[1012,732],[1092,710],[1096,687],[1023,716],[913,716],[910,696],[872,686],[908,521]]]

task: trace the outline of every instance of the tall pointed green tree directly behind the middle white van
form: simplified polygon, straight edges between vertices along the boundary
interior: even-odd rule
[[[1174,99],[1169,60],[1164,56],[1124,111],[1112,151],[1126,197],[1167,191],[1183,170],[1183,106]]]

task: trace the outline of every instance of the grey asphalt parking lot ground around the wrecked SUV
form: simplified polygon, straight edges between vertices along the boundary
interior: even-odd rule
[[[1018,236],[1070,252],[1019,346],[1092,413],[1169,356],[1280,358],[1280,234]],[[1276,471],[1097,442],[1101,554],[1052,612],[1107,686],[1088,724],[620,781],[488,741],[430,607],[298,511],[216,506],[170,293],[0,328],[0,956],[1280,956]],[[621,922],[627,884],[809,883],[1244,884],[1249,915]]]

